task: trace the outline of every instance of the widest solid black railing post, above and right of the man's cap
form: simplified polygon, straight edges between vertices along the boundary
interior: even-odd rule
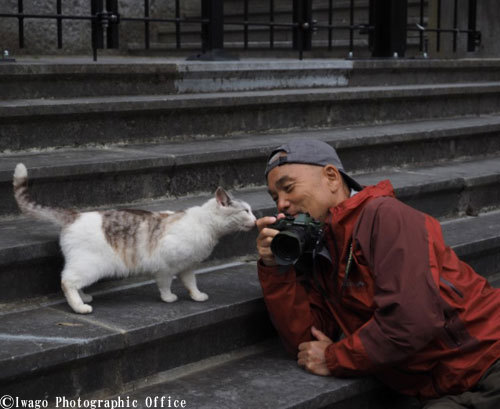
[[[404,57],[408,0],[370,0],[372,57]]]

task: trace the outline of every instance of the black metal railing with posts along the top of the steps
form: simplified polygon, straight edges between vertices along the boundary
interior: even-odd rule
[[[442,3],[453,2],[453,26],[442,27]],[[123,22],[144,24],[144,48],[151,46],[151,24],[172,24],[175,27],[175,48],[182,48],[182,26],[186,23],[200,25],[199,35],[201,37],[202,53],[200,59],[225,59],[228,56],[224,51],[224,32],[229,26],[241,27],[242,48],[249,49],[250,28],[263,27],[269,31],[269,49],[275,49],[275,34],[277,29],[291,30],[292,48],[297,50],[300,59],[304,51],[313,47],[313,35],[319,31],[327,32],[327,49],[333,49],[335,33],[344,31],[348,33],[346,55],[352,58],[354,55],[355,33],[368,36],[368,47],[372,57],[403,57],[407,45],[407,34],[416,32],[419,38],[420,51],[427,55],[428,36],[433,33],[436,36],[436,50],[442,48],[442,37],[444,34],[452,35],[452,48],[457,51],[457,42],[460,35],[467,36],[467,50],[474,51],[481,41],[481,33],[477,30],[476,13],[477,0],[468,0],[467,27],[459,27],[458,0],[437,0],[437,21],[435,27],[429,27],[426,23],[428,13],[427,0],[412,1],[415,6],[418,3],[418,23],[408,25],[407,10],[408,0],[368,0],[369,17],[363,17],[365,21],[356,21],[356,11],[359,1],[343,0],[348,4],[347,23],[335,23],[334,13],[338,2],[328,1],[326,11],[323,10],[319,18],[315,18],[316,11],[313,10],[313,0],[293,0],[288,12],[292,15],[291,21],[283,22],[276,20],[276,2],[269,0],[268,19],[254,21],[251,19],[250,1],[242,0],[241,18],[228,18],[224,14],[223,0],[200,0],[200,16],[181,17],[181,4],[179,0],[172,1],[174,15],[171,17],[152,17],[149,0],[144,0],[144,16],[127,17],[119,13],[118,0],[91,0],[90,14],[72,15],[62,13],[62,0],[55,0],[56,12],[54,14],[25,13],[23,0],[18,0],[17,10],[11,13],[0,13],[2,18],[17,19],[19,48],[25,47],[25,20],[45,19],[55,20],[57,26],[57,48],[63,48],[63,22],[66,20],[87,20],[91,22],[90,39],[93,50],[94,61],[97,60],[98,49],[119,48],[119,27]],[[255,3],[255,2],[254,2]],[[363,2],[366,5],[366,0]],[[281,10],[282,11],[282,10]],[[360,19],[358,19],[360,20]],[[0,47],[3,45],[0,44]]]

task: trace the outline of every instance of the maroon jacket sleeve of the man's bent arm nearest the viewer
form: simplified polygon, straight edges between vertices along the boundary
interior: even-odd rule
[[[374,279],[374,314],[352,335],[330,345],[333,375],[366,374],[425,347],[444,324],[430,263],[425,214],[393,198],[363,210],[353,239]]]

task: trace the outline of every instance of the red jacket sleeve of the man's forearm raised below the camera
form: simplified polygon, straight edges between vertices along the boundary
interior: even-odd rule
[[[312,340],[311,327],[335,339],[339,329],[321,295],[297,280],[293,267],[267,267],[258,263],[259,280],[271,321],[287,351],[296,356],[302,342]]]

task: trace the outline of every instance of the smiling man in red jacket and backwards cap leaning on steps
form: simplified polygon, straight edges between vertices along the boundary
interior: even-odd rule
[[[500,290],[445,245],[437,220],[388,181],[361,187],[317,140],[275,149],[266,177],[279,218],[325,223],[331,263],[296,271],[271,251],[276,218],[257,221],[264,299],[301,367],[373,374],[427,408],[500,408]]]

